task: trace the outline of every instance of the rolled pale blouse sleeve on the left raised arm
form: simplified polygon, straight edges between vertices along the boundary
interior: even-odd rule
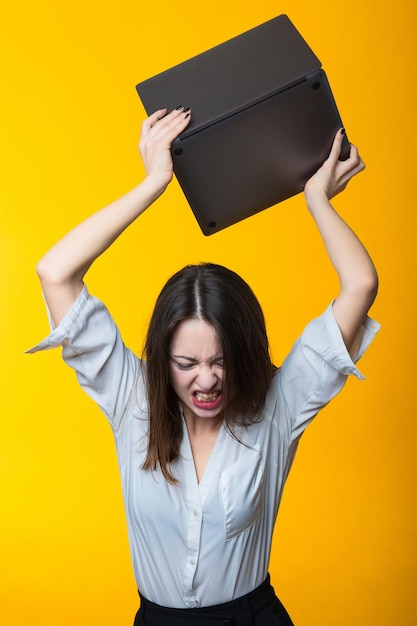
[[[100,300],[83,287],[58,326],[48,311],[51,333],[28,353],[62,346],[64,361],[81,387],[117,429],[129,402],[140,360],[124,345],[119,329]]]

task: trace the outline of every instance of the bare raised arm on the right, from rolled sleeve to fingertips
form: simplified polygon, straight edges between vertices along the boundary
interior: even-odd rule
[[[351,146],[346,161],[339,160],[342,140],[343,130],[339,130],[328,159],[306,183],[304,193],[339,277],[340,293],[333,304],[333,314],[351,351],[375,299],[378,276],[365,247],[330,204],[330,199],[365,167],[355,146]]]

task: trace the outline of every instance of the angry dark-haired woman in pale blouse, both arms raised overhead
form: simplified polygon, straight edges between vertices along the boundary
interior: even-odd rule
[[[329,199],[364,165],[343,130],[305,186],[340,293],[281,368],[270,360],[260,306],[234,272],[189,266],[163,288],[145,360],[124,347],[86,271],[160,196],[173,175],[183,107],[143,124],[144,181],[88,218],[39,262],[53,322],[32,349],[63,346],[116,440],[141,608],[135,626],[292,624],[269,584],[272,532],[299,438],[343,387],[378,325],[373,263]]]

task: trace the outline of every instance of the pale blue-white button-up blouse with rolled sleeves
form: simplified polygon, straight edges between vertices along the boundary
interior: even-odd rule
[[[28,352],[63,346],[85,391],[114,432],[140,592],[175,608],[228,602],[266,578],[285,480],[299,438],[349,374],[363,378],[331,305],[296,341],[273,377],[262,421],[236,434],[222,427],[198,483],[187,429],[170,485],[141,469],[147,445],[146,363],[123,344],[105,306],[86,287],[61,324]],[[367,319],[357,361],[379,325]]]

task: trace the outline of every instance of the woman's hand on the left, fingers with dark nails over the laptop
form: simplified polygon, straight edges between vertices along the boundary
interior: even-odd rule
[[[161,189],[172,180],[173,162],[171,144],[188,126],[191,120],[189,109],[178,107],[167,114],[167,109],[155,111],[142,124],[139,150],[148,178],[152,178]]]

